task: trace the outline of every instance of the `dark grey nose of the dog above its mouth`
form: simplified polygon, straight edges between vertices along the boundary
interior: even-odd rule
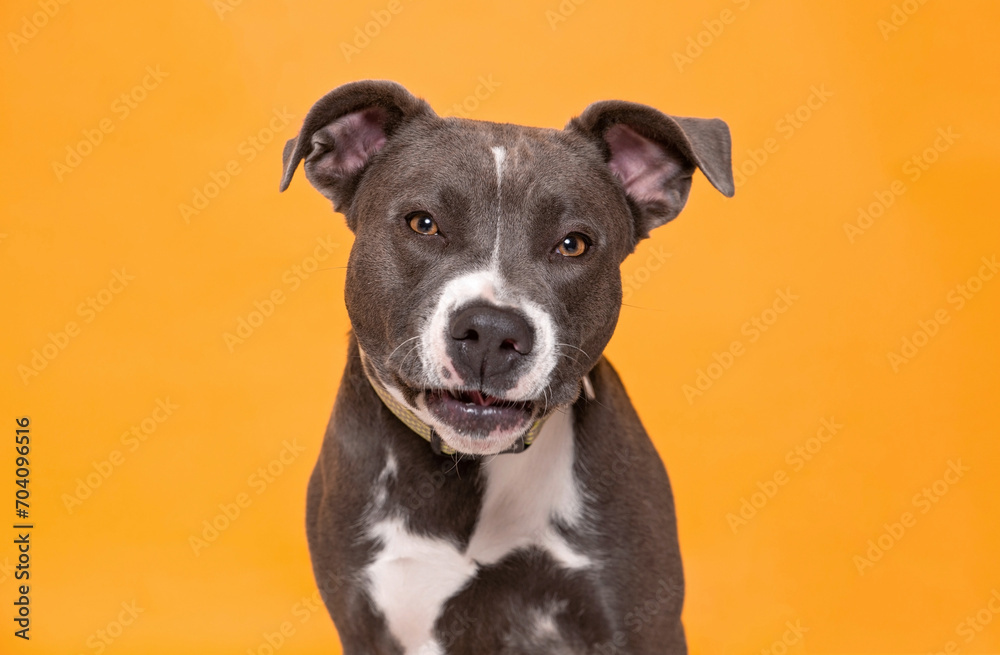
[[[534,346],[531,326],[523,316],[488,305],[455,314],[449,333],[452,359],[467,380],[485,382],[510,372]]]

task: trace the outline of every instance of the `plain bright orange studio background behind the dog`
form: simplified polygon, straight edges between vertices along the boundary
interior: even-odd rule
[[[696,177],[687,210],[622,267],[633,282],[607,350],[674,483],[693,653],[780,653],[783,638],[789,653],[1000,652],[1000,278],[980,263],[1000,254],[996,3],[223,2],[0,9],[0,650],[97,653],[103,630],[108,653],[266,653],[289,622],[281,653],[339,652],[325,611],[301,604],[315,592],[303,514],[344,363],[351,235],[303,178],[277,187],[316,99],[388,78],[483,120],[561,127],[622,98],[729,123],[735,198]],[[346,55],[373,11],[385,24]],[[894,11],[898,29],[880,27]],[[292,120],[272,121],[282,111]],[[916,180],[914,156],[934,159]],[[179,206],[231,161],[186,222]],[[861,233],[845,228],[870,206]],[[317,239],[336,247],[302,277],[327,255]],[[115,271],[134,279],[109,289]],[[978,289],[961,308],[958,285]],[[798,299],[772,314],[779,289]],[[284,302],[227,347],[273,290]],[[771,323],[756,337],[755,318]],[[889,353],[921,329],[933,335],[894,370]],[[65,347],[35,370],[49,333]],[[689,402],[699,371],[717,379]],[[30,644],[8,618],[22,415]],[[810,441],[831,418],[837,434]],[[303,450],[276,466],[286,440]],[[935,487],[959,460],[968,471]],[[68,508],[95,463],[111,474]],[[268,482],[255,472],[269,464]],[[189,537],[238,497],[196,555]],[[745,524],[727,518],[741,506]],[[133,602],[135,621],[109,628]],[[966,641],[977,612],[989,625]]]

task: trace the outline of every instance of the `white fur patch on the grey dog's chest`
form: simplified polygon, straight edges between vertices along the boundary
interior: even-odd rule
[[[579,528],[583,520],[573,459],[567,410],[549,418],[525,452],[486,462],[482,508],[464,550],[447,538],[414,534],[398,514],[371,524],[370,533],[382,547],[365,571],[368,592],[406,655],[443,652],[434,640],[434,623],[444,603],[481,566],[527,547],[546,550],[566,568],[591,565],[556,528],[556,523]]]

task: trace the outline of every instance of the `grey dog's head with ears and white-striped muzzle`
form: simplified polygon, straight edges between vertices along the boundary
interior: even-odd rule
[[[393,82],[324,96],[284,152],[355,234],[346,299],[369,376],[449,446],[501,452],[572,403],[611,338],[619,265],[733,194],[729,129],[598,102],[563,130],[441,118]]]

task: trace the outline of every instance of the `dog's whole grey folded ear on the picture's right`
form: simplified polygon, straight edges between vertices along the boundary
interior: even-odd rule
[[[723,195],[735,193],[729,127],[717,118],[668,116],[607,100],[590,105],[566,127],[597,141],[604,152],[632,207],[637,240],[684,209],[695,167]]]

